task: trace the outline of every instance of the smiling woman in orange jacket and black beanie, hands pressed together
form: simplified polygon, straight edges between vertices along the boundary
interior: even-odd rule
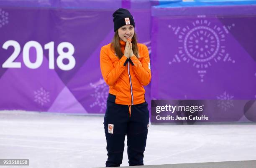
[[[101,73],[110,88],[104,117],[106,167],[122,163],[125,135],[129,165],[143,165],[149,121],[143,86],[151,81],[148,48],[137,43],[128,10],[116,10],[113,18],[113,41],[100,51]]]

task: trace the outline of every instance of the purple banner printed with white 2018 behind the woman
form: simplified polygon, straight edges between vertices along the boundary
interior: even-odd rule
[[[0,8],[0,110],[105,113],[100,48],[113,38],[115,10]],[[150,9],[130,11],[149,47]]]

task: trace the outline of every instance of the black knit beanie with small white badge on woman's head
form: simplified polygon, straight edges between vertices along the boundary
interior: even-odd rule
[[[133,16],[127,9],[119,8],[113,13],[113,22],[114,22],[114,32],[118,30],[123,25],[133,25],[135,28],[135,23]]]

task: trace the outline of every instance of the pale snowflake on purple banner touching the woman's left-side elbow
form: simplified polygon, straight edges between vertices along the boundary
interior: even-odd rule
[[[90,86],[94,88],[94,93],[91,96],[95,98],[95,102],[90,107],[97,105],[100,107],[100,113],[102,113],[106,110],[109,87],[103,79],[94,84],[90,83]]]

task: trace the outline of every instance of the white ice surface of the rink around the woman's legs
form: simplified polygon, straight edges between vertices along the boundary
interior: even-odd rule
[[[103,116],[0,111],[0,159],[29,159],[30,168],[105,167]],[[149,126],[145,165],[232,160],[256,160],[256,125]]]

